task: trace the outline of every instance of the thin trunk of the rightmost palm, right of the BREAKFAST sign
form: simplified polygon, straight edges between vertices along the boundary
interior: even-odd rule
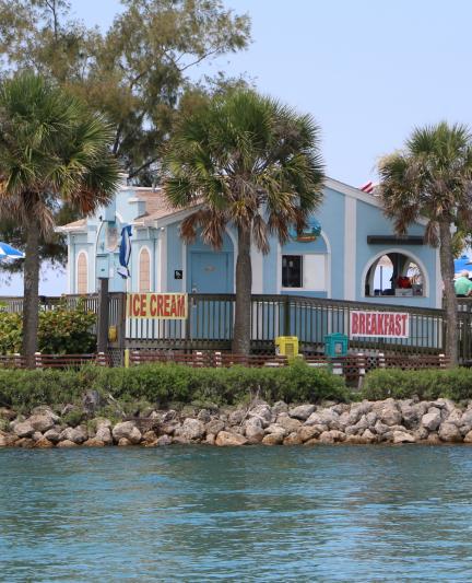
[[[448,221],[439,223],[439,257],[441,277],[446,300],[446,354],[450,358],[451,366],[458,364],[458,302],[453,287],[453,253],[450,224]]]

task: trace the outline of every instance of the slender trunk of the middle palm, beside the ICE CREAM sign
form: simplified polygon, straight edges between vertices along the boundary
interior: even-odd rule
[[[249,354],[252,268],[250,260],[250,229],[238,226],[238,256],[236,263],[236,310],[233,352]]]

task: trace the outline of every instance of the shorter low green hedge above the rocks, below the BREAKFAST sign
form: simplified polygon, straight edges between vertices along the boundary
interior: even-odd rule
[[[366,375],[363,397],[370,400],[404,399],[417,396],[422,400],[439,397],[452,400],[472,398],[472,370],[429,369],[424,371],[401,371],[400,369],[377,369]]]

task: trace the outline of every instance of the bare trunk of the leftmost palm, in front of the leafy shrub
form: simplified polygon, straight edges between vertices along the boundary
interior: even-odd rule
[[[23,272],[22,353],[26,357],[28,366],[34,366],[34,353],[37,351],[39,316],[39,223],[36,217],[30,217],[26,224],[26,248]]]

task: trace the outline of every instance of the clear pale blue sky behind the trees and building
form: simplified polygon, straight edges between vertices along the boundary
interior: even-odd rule
[[[353,186],[376,178],[376,162],[415,126],[446,119],[472,126],[469,0],[224,0],[247,12],[252,43],[201,73],[246,73],[257,89],[310,113],[321,127],[329,176]],[[118,0],[72,0],[103,30]],[[0,295],[21,294],[21,280]],[[44,294],[66,292],[48,272]]]

